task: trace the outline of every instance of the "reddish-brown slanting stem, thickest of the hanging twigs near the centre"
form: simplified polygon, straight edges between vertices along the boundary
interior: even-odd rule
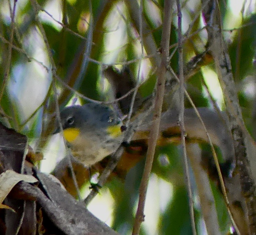
[[[155,107],[153,115],[153,124],[151,126],[151,132],[149,136],[149,147],[147,149],[145,167],[143,171],[143,176],[139,189],[139,204],[137,208],[137,213],[133,225],[132,234],[136,235],[140,232],[141,223],[144,221],[144,206],[146,199],[147,186],[149,183],[150,172],[152,168],[152,163],[154,159],[155,147],[157,143],[157,137],[159,133],[160,117],[162,112],[162,104],[165,89],[165,79],[166,79],[166,61],[169,56],[169,44],[170,44],[170,34],[171,34],[171,24],[172,24],[172,5],[173,1],[164,1],[164,19],[163,19],[163,31],[162,31],[162,53],[161,53],[161,63],[158,70],[158,79],[156,82],[156,97],[155,97]]]

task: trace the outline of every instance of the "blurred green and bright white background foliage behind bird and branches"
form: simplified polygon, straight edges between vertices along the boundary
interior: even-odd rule
[[[185,77],[185,86],[197,107],[213,109],[215,100],[225,110],[213,58],[207,54],[209,42],[202,13],[206,3],[202,2],[181,2],[184,65],[201,55],[200,63]],[[244,122],[255,138],[255,1],[222,0],[216,1],[216,5]],[[161,53],[163,9],[161,0],[0,2],[1,121],[27,135],[35,152],[44,153],[42,171],[51,172],[63,157],[63,151],[58,150],[62,146],[60,140],[49,141],[56,92],[60,109],[73,98],[78,103],[88,102],[74,91],[94,100],[113,100],[115,92],[111,80],[106,79],[106,68],[114,68],[115,76],[121,74],[120,79],[124,71],[129,73],[134,85],[141,84],[141,99],[153,92]],[[174,4],[169,64],[176,74],[177,22]],[[176,105],[173,97],[172,92],[167,94],[164,109]],[[191,107],[188,100],[185,106]],[[207,144],[200,147],[210,149]],[[181,153],[177,144],[156,149],[141,234],[192,234]],[[128,172],[124,182],[108,182],[89,206],[121,234],[131,233],[142,171],[143,160]],[[205,234],[197,188],[190,172],[196,227],[198,234]],[[212,182],[211,187],[219,227],[226,234],[231,221],[216,183]],[[85,194],[87,188],[88,185]]]

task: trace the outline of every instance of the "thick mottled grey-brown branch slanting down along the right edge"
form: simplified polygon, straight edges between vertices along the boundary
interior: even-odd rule
[[[233,137],[236,164],[240,176],[242,194],[247,206],[250,234],[256,234],[256,198],[255,198],[255,153],[246,153],[245,126],[242,111],[239,106],[234,77],[231,70],[231,61],[222,35],[220,11],[216,1],[211,1],[203,12],[208,24],[208,43],[213,55],[219,82],[221,84],[226,103],[229,128]]]

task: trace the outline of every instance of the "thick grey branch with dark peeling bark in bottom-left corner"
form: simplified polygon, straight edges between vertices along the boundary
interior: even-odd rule
[[[0,174],[7,169],[19,172],[27,142],[26,136],[6,128],[0,123],[0,142]],[[44,211],[42,224],[45,225],[47,223],[49,225],[49,227],[45,228],[47,230],[45,232],[48,234],[116,234],[106,224],[92,215],[83,203],[77,202],[66,192],[56,178],[42,174],[37,169],[32,168],[32,165],[28,162],[25,164],[25,172],[27,172],[27,175],[23,176],[33,174],[40,181],[40,184],[31,185],[22,181],[16,184],[8,194],[5,202],[10,202],[14,208],[23,205],[23,200],[26,201],[26,208],[24,210],[23,208],[19,208],[22,216],[20,213],[11,212],[13,220],[9,220],[9,223],[12,222],[12,224],[9,224],[11,225],[9,226],[10,229],[17,226],[17,223],[13,221],[19,221],[20,224],[17,229],[20,228],[20,233],[28,223],[33,224],[34,227],[39,225],[40,222],[32,220],[32,218],[36,217],[37,212],[42,207]],[[37,204],[36,209],[34,208],[33,202]],[[30,209],[34,210],[32,211]],[[24,219],[22,220],[23,216]],[[29,218],[29,220],[25,218]],[[34,234],[35,231],[32,232],[28,233],[27,231],[26,234]]]

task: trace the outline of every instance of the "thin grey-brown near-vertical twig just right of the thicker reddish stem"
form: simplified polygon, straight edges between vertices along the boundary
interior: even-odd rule
[[[183,46],[182,46],[182,12],[181,12],[181,1],[177,0],[177,14],[178,14],[178,67],[179,67],[179,77],[180,77],[180,130],[181,130],[181,146],[184,159],[185,168],[185,179],[188,192],[188,201],[190,206],[190,220],[192,225],[192,232],[196,235],[196,225],[195,225],[195,215],[194,215],[194,203],[193,194],[191,189],[190,172],[188,169],[188,159],[186,152],[186,141],[185,141],[185,122],[184,122],[184,71],[183,71]]]

